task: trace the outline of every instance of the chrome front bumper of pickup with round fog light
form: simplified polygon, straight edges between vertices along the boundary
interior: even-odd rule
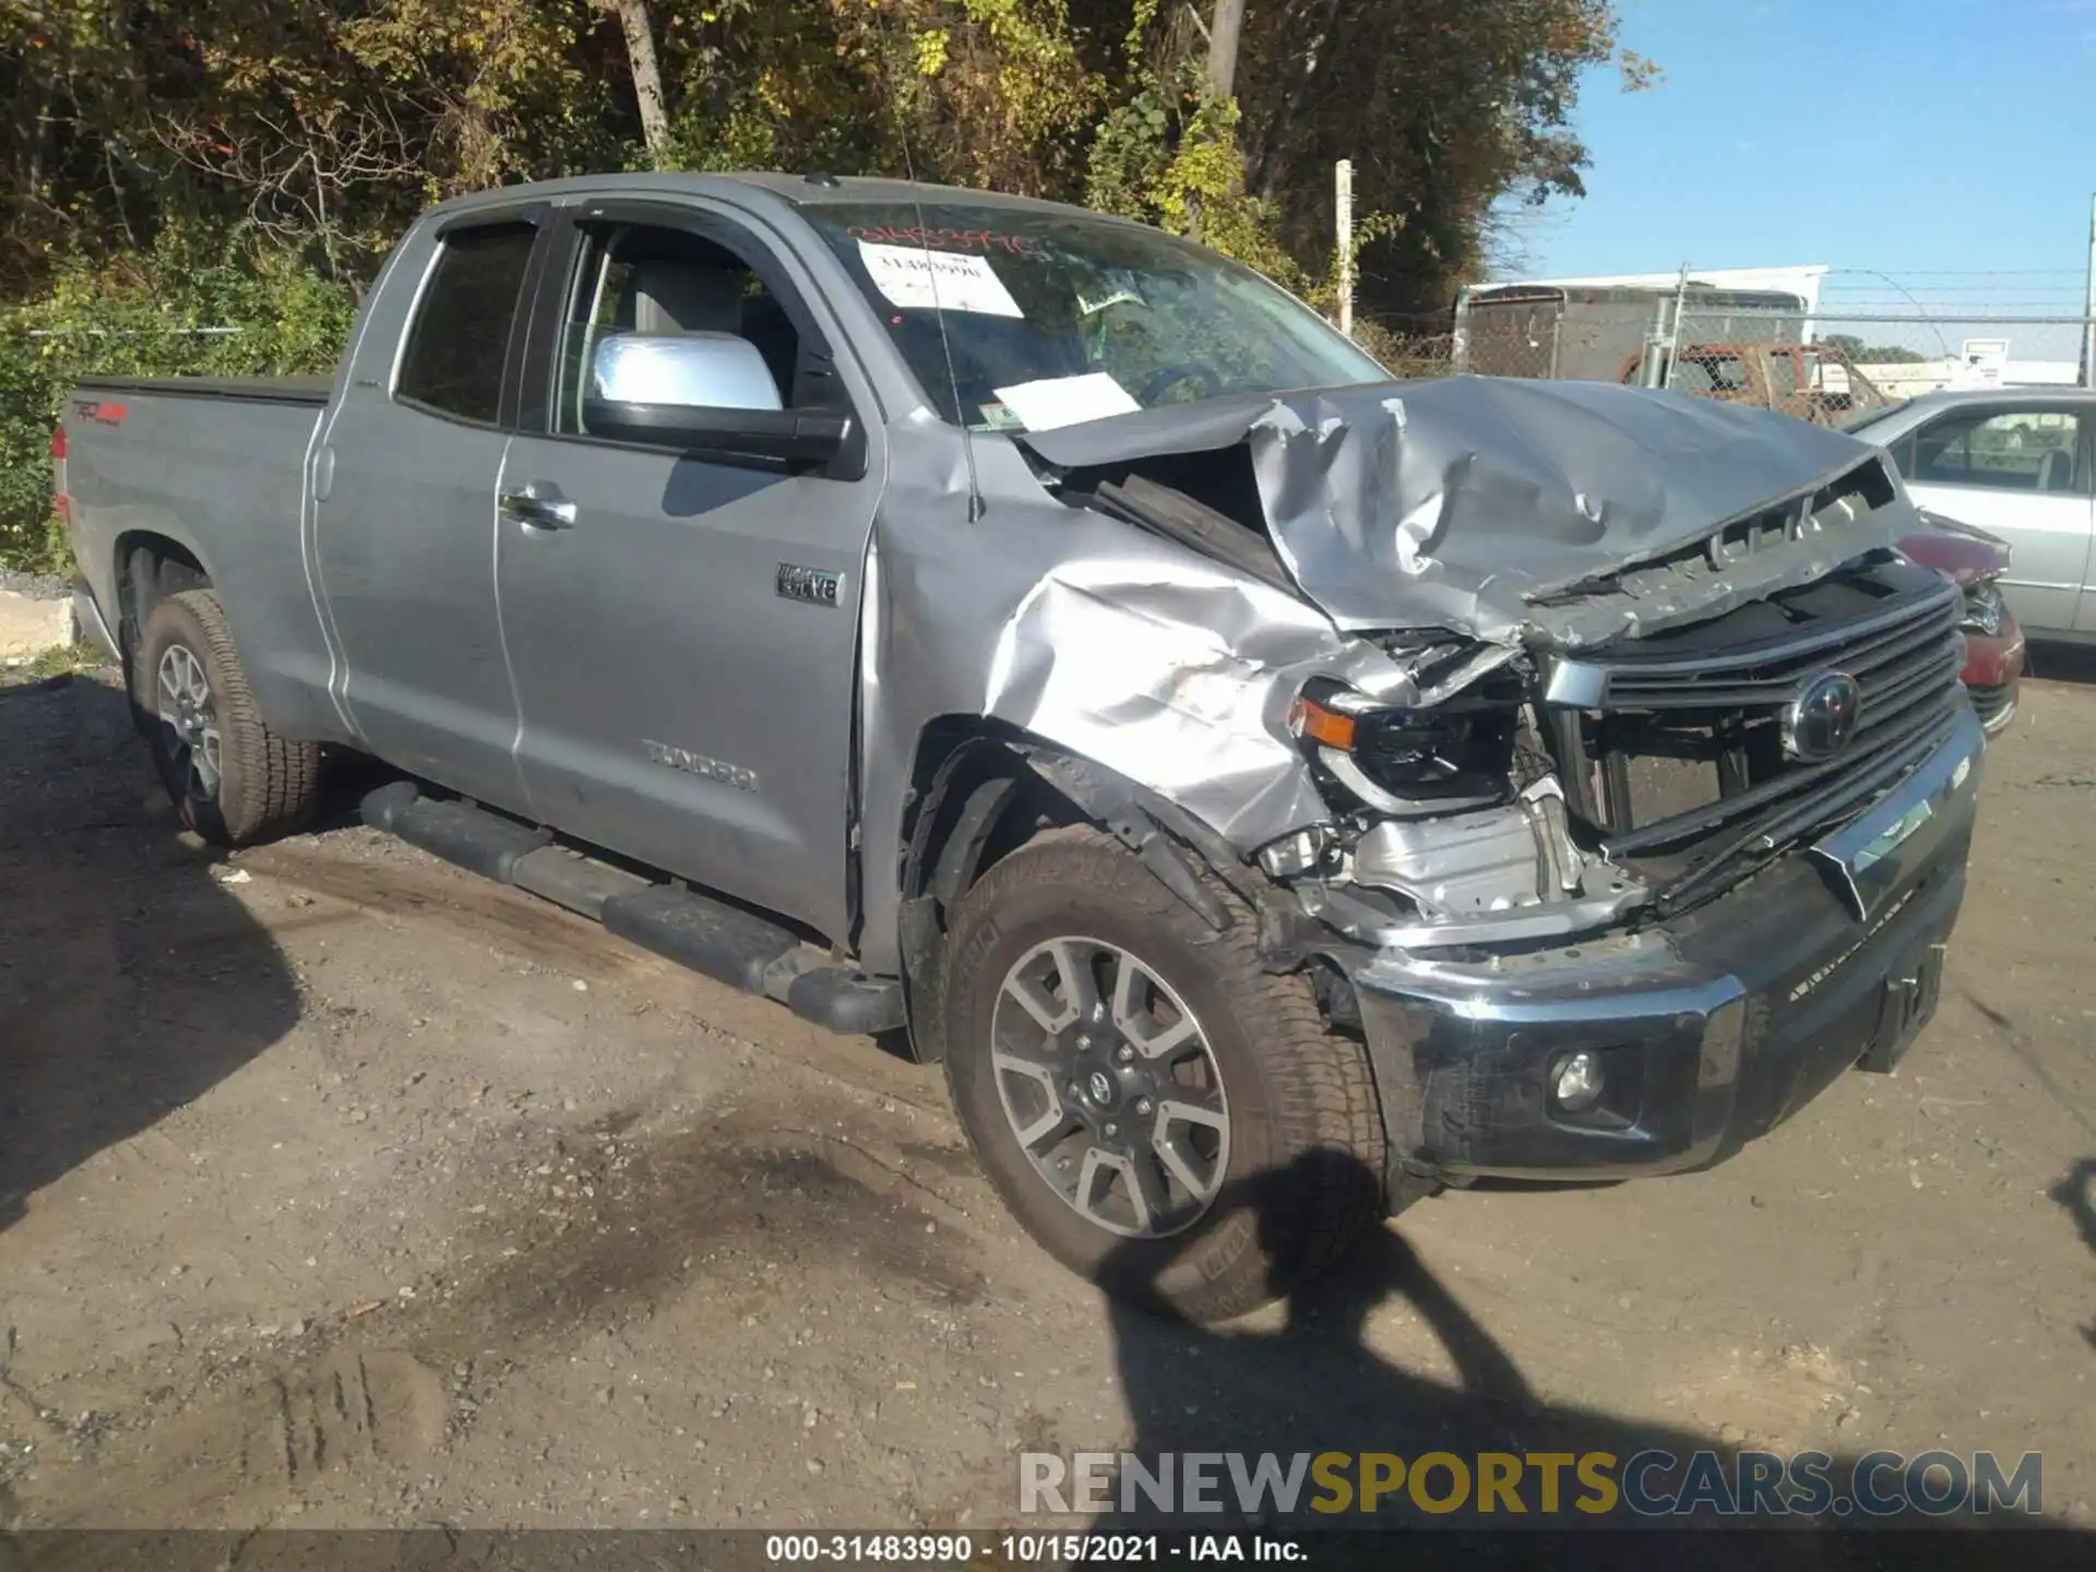
[[[1964,899],[1985,738],[1949,738],[1878,803],[1725,895],[1551,949],[1352,970],[1392,1161],[1446,1178],[1704,1167],[1926,1025]],[[1593,1052],[1603,1094],[1551,1082]]]

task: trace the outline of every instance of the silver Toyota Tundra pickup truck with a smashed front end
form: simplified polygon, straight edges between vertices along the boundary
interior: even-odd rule
[[[436,208],[333,386],[90,381],[59,446],[189,824],[373,755],[371,824],[905,1031],[1180,1314],[1436,1186],[1712,1163],[1935,1006],[1960,604],[1836,432],[1392,381],[1071,208],[679,174]]]

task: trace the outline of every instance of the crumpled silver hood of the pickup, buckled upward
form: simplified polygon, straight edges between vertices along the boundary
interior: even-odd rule
[[[1553,616],[1538,604],[1622,578],[1880,455],[1769,411],[1505,377],[1203,400],[1021,440],[1061,467],[1247,444],[1274,549],[1346,629],[1582,646],[1807,583],[1914,528],[1891,482],[1886,505],[1849,505],[1738,562],[1712,555],[1624,581],[1622,604],[1599,616]]]

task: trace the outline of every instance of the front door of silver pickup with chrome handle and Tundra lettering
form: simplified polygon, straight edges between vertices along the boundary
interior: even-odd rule
[[[794,264],[698,205],[625,212],[585,210],[547,272],[526,375],[551,394],[499,482],[524,782],[547,824],[843,939],[878,461],[811,474],[591,436],[610,331],[734,333],[782,407],[851,398]]]

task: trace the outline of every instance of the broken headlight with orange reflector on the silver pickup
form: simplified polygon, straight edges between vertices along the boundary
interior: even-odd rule
[[[1518,694],[1497,685],[1434,708],[1402,708],[1316,679],[1289,708],[1289,732],[1318,773],[1356,805],[1394,815],[1505,803],[1518,723]]]

